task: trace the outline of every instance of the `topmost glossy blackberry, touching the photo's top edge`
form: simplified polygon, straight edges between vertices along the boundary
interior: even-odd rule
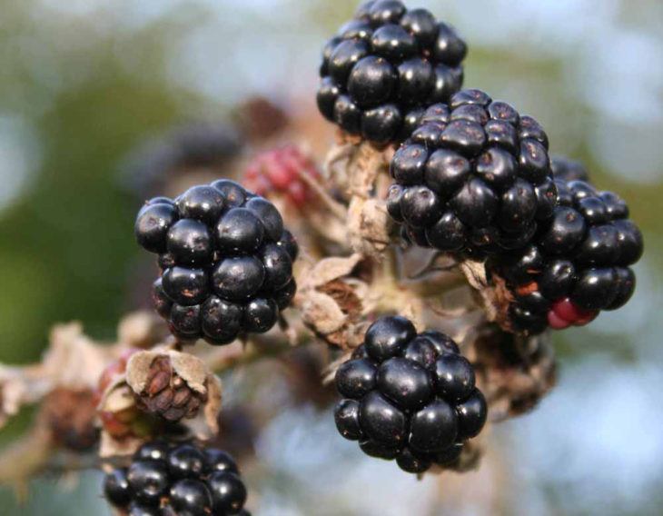
[[[377,144],[404,139],[422,107],[460,90],[466,54],[460,35],[427,10],[368,2],[324,47],[318,106],[350,134]]]

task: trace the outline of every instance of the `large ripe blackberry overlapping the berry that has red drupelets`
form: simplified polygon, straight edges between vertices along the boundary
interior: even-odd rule
[[[391,161],[388,211],[415,243],[445,252],[523,247],[557,189],[537,122],[480,90],[433,104]]]

